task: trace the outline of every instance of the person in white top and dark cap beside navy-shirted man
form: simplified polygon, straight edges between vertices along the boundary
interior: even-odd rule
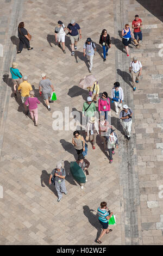
[[[55,41],[58,42],[58,46],[61,48],[62,43],[62,50],[64,53],[65,51],[65,30],[66,27],[62,21],[58,21],[58,26],[55,27]]]

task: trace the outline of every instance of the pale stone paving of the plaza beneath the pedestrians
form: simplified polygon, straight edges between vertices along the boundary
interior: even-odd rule
[[[116,215],[116,225],[111,234],[103,237],[102,245],[163,245],[163,8],[161,1],[146,3],[143,0],[106,0],[104,4],[100,0],[1,1],[1,245],[97,245],[95,239],[101,233],[97,207],[102,201],[108,202]],[[131,44],[127,57],[121,30],[126,23],[131,27],[135,14],[143,22],[143,42],[139,49]],[[55,43],[54,29],[58,20],[68,25],[73,18],[82,29],[82,39],[71,56],[70,38],[66,36],[64,54]],[[30,45],[34,50],[23,48],[16,55],[17,26],[21,21],[32,34]],[[112,43],[105,63],[98,43],[103,28]],[[97,77],[100,92],[106,91],[111,96],[114,82],[119,81],[124,103],[133,109],[134,118],[131,140],[126,141],[111,105],[111,124],[117,131],[120,147],[113,164],[109,164],[99,137],[95,150],[88,143],[86,159],[90,161],[90,175],[82,191],[70,173],[75,152],[71,143],[73,131],[67,126],[68,120],[73,120],[71,112],[81,113],[87,97],[87,91],[80,89],[78,83],[89,75],[83,57],[83,44],[88,36],[97,46],[92,74]],[[129,74],[133,56],[139,57],[143,65],[136,92],[131,89]],[[22,74],[28,76],[41,101],[38,127],[24,115],[21,97],[15,99],[12,93],[9,68],[13,60]],[[57,93],[57,101],[51,103],[49,112],[39,96],[42,72],[51,79]],[[63,113],[62,131],[52,128],[54,111]],[[79,127],[80,123],[77,121],[76,125]],[[58,203],[48,179],[59,160],[66,169],[68,194]]]

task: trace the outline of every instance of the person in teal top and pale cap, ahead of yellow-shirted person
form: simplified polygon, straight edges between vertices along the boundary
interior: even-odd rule
[[[14,83],[14,95],[17,96],[17,86],[22,82],[22,74],[17,69],[18,64],[16,62],[12,62],[12,67],[10,68],[12,82]]]

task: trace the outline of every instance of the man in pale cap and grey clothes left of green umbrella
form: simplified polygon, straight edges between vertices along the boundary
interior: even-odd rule
[[[65,177],[66,177],[65,169],[62,168],[62,164],[58,162],[56,164],[56,168],[52,170],[52,173],[49,178],[49,185],[51,185],[53,182],[57,190],[58,202],[60,202],[62,198],[62,193],[67,194],[67,190],[65,186]]]

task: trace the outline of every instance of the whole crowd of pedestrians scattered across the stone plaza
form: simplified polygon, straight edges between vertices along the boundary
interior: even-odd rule
[[[122,29],[122,43],[126,49],[127,56],[129,56],[128,45],[131,43],[131,38],[134,40],[136,47],[139,46],[139,43],[142,41],[142,32],[141,32],[142,20],[139,19],[139,15],[135,15],[135,19],[132,22],[132,28],[134,29],[134,34],[131,32],[131,29],[128,24]],[[77,50],[77,42],[82,39],[82,31],[78,23],[75,20],[71,20],[67,27],[65,27],[62,21],[58,21],[58,26],[55,27],[55,41],[58,42],[58,46],[62,48],[62,51],[65,51],[65,35],[66,29],[68,35],[70,36],[71,41],[71,56],[74,56],[74,51]],[[30,47],[31,35],[28,33],[27,29],[24,28],[24,22],[20,22],[18,25],[18,38],[20,43],[18,45],[17,53],[21,53],[23,45],[26,45],[27,50],[32,50],[33,47]],[[106,56],[108,56],[108,50],[111,48],[111,39],[106,31],[102,30],[101,36],[99,38],[99,44],[102,46],[103,50],[103,61],[106,61]],[[96,43],[88,37],[83,46],[83,55],[89,60],[89,72],[91,72],[93,67],[93,57],[96,51]],[[30,112],[30,116],[34,121],[35,126],[37,126],[38,120],[38,111],[37,104],[40,104],[39,99],[35,97],[35,92],[28,82],[28,77],[26,75],[22,76],[21,72],[17,69],[18,64],[12,63],[10,68],[12,81],[14,83],[14,95],[17,98],[18,93],[21,93],[21,100],[23,103],[24,111],[26,114]],[[139,82],[139,76],[142,72],[142,64],[134,57],[129,66],[129,72],[131,73],[133,80],[133,90],[136,90],[136,83]],[[52,82],[46,77],[45,73],[41,74],[41,81],[39,83],[39,93],[40,96],[43,96],[43,100],[46,102],[48,111],[51,111],[49,103],[51,103],[51,94],[55,92]],[[18,88],[17,88],[18,87]],[[72,144],[74,149],[78,154],[78,159],[76,160],[80,168],[82,168],[84,174],[88,173],[87,168],[90,166],[90,162],[85,159],[83,154],[86,151],[87,144],[90,140],[92,143],[92,149],[96,148],[96,137],[99,135],[101,137],[101,143],[104,145],[104,151],[109,151],[109,162],[112,163],[112,155],[115,154],[115,148],[118,148],[118,138],[117,133],[111,126],[111,123],[108,119],[108,113],[111,111],[110,100],[107,92],[103,92],[101,97],[99,97],[99,84],[98,81],[92,84],[91,87],[87,88],[89,90],[89,95],[87,96],[86,102],[83,104],[83,117],[86,120],[86,129],[85,129],[85,139],[80,134],[79,131],[73,132]],[[18,91],[18,92],[17,92]],[[133,111],[126,105],[123,104],[124,94],[123,89],[120,87],[119,82],[115,82],[111,91],[111,100],[115,106],[116,115],[118,115],[120,108],[120,119],[122,120],[122,126],[124,130],[124,137],[128,140],[131,135],[131,124]],[[96,120],[96,103],[98,101],[98,112],[99,118]],[[28,106],[28,108],[27,108]],[[86,140],[86,141],[85,141]],[[62,168],[60,162],[57,163],[56,168],[52,170],[52,173],[49,177],[49,185],[55,184],[55,188],[58,192],[58,202],[62,198],[62,193],[67,194],[65,186],[65,169]],[[87,181],[87,178],[85,179]],[[84,184],[80,184],[81,189],[83,190]],[[108,229],[108,220],[112,216],[112,212],[108,214],[108,208],[106,207],[106,202],[101,203],[101,207],[98,208],[99,222],[102,224],[103,231],[99,236],[97,242],[101,242],[102,236],[106,233],[110,233],[112,230]]]

